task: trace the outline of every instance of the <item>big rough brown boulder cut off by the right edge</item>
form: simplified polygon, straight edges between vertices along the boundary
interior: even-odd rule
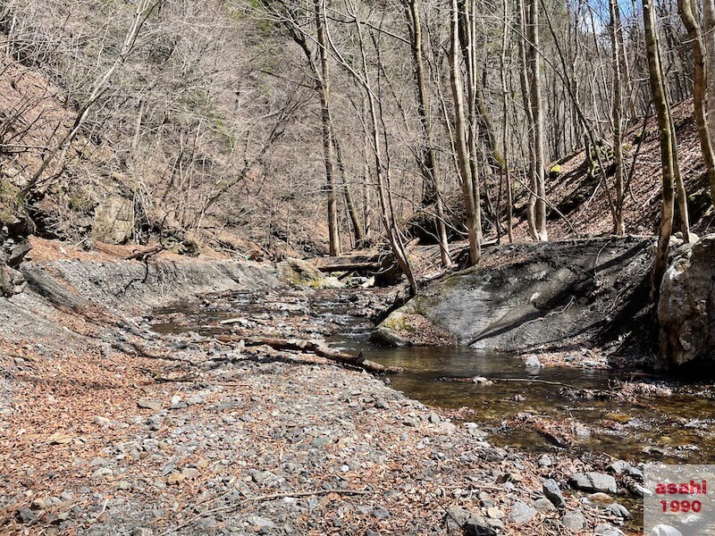
[[[686,249],[663,276],[658,302],[664,366],[715,359],[715,234]]]

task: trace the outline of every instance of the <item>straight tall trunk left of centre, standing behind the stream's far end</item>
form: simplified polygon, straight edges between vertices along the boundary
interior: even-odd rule
[[[330,63],[327,54],[327,39],[323,23],[322,0],[313,0],[315,26],[317,28],[318,56],[320,58],[320,118],[323,126],[323,151],[325,163],[325,187],[328,196],[328,243],[330,255],[341,254],[341,241],[338,235],[338,203],[335,194],[335,157],[332,150],[332,121],[330,115]]]

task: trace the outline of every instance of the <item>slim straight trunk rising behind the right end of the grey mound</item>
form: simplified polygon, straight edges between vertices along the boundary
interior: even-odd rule
[[[613,154],[616,163],[616,214],[615,229],[613,232],[618,236],[626,233],[626,225],[623,221],[623,99],[621,96],[621,75],[620,75],[620,40],[618,31],[620,27],[620,13],[618,0],[609,1],[610,9],[610,47],[611,62],[613,63],[613,105],[611,108],[611,119],[613,121]]]

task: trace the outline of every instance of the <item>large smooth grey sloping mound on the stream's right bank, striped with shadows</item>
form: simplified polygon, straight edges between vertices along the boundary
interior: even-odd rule
[[[420,325],[426,321],[462,346],[515,351],[623,330],[647,305],[651,245],[590,239],[501,246],[479,266],[422,291],[388,316],[377,335],[430,344],[423,336],[430,331]]]

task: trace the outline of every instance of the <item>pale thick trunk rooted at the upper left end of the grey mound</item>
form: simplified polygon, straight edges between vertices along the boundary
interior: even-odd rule
[[[454,100],[455,145],[459,178],[462,185],[462,197],[467,216],[467,235],[469,239],[469,264],[475,265],[482,258],[481,236],[476,225],[475,195],[472,178],[472,168],[469,163],[467,149],[467,121],[462,90],[462,77],[459,63],[459,13],[458,0],[452,0],[450,13],[450,82]]]

